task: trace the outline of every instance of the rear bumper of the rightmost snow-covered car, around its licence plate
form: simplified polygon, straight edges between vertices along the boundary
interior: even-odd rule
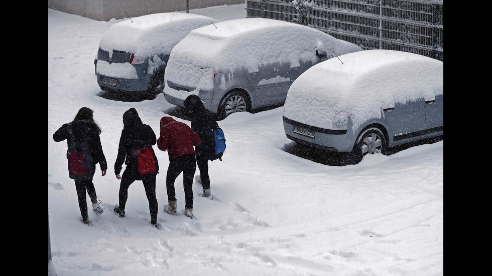
[[[286,117],[283,117],[284,131],[287,138],[295,141],[298,144],[326,150],[326,151],[339,151],[339,152],[351,152],[354,145],[354,135],[351,131],[347,130],[330,130],[319,127],[313,127],[306,124],[302,124]],[[308,137],[294,132],[295,127],[302,127],[309,129],[314,133],[313,137]]]

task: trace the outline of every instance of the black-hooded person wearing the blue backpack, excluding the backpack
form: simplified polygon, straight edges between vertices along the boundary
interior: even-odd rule
[[[184,106],[193,114],[191,129],[198,133],[201,140],[200,145],[195,147],[196,164],[200,171],[200,175],[196,177],[196,180],[202,184],[202,196],[212,199],[208,160],[215,156],[215,135],[213,131],[218,128],[218,124],[214,115],[205,109],[203,102],[197,95],[188,96],[184,101]]]

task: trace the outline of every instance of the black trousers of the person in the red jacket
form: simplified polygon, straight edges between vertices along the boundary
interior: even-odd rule
[[[171,159],[167,169],[166,190],[168,200],[176,200],[176,190],[174,181],[183,172],[183,189],[185,193],[185,207],[193,208],[193,176],[196,171],[195,156],[192,154],[183,155]]]

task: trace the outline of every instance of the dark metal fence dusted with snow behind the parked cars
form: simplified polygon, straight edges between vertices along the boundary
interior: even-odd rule
[[[443,61],[442,0],[245,0],[248,18],[300,22],[365,50],[416,53]],[[307,3],[301,7],[300,3]],[[307,6],[307,7],[306,7]]]

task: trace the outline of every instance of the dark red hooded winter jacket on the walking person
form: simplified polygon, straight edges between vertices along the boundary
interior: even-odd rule
[[[169,160],[188,154],[196,155],[193,146],[200,144],[200,136],[187,124],[171,117],[162,117],[160,125],[161,133],[157,139],[157,147],[168,151]]]

